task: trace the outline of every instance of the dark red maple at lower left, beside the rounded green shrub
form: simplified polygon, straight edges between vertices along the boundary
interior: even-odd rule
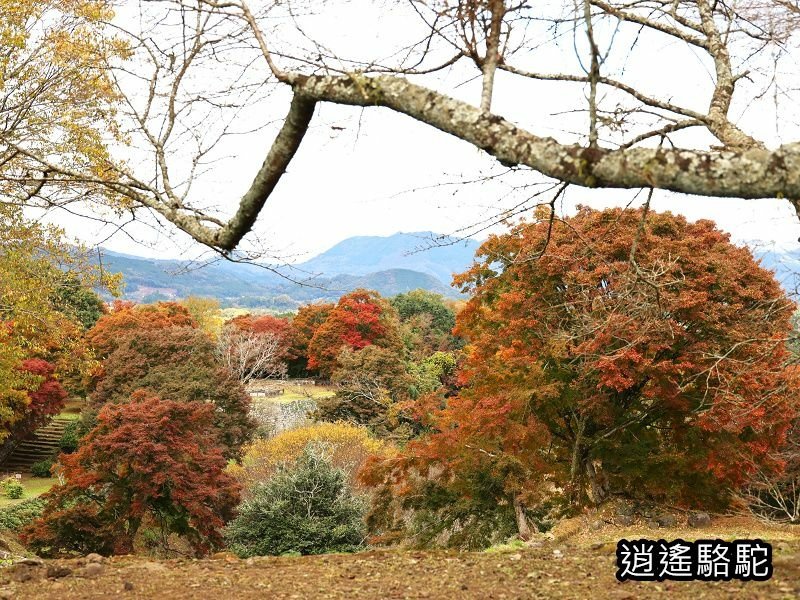
[[[126,554],[148,519],[198,554],[219,546],[239,488],[213,422],[212,405],[144,392],[104,406],[78,451],[61,456],[65,483],[45,494],[23,540],[43,555]]]

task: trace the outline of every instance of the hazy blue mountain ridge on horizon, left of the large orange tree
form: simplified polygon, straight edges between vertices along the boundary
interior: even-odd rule
[[[126,299],[152,302],[206,296],[223,306],[290,310],[307,302],[336,300],[359,287],[385,296],[422,288],[459,297],[449,285],[451,278],[472,264],[478,245],[474,240],[418,232],[348,238],[288,268],[229,261],[200,266],[110,250],[103,251],[102,261],[106,270],[122,273]]]

